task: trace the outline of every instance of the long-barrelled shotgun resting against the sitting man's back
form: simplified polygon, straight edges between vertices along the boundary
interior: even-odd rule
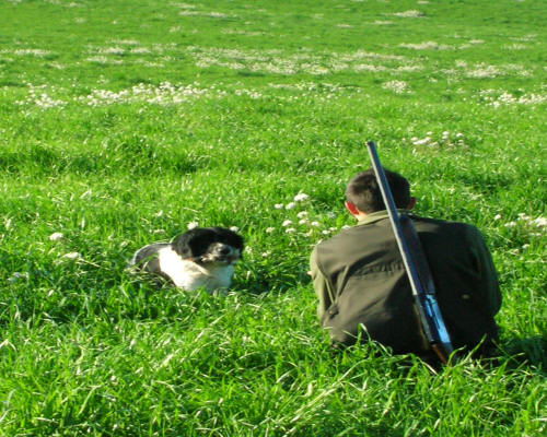
[[[395,239],[403,257],[408,280],[410,281],[423,333],[439,359],[447,364],[454,349],[452,347],[450,334],[437,302],[437,292],[423,248],[410,217],[407,214],[399,215],[397,211],[384,168],[376,153],[376,146],[372,141],[369,141],[366,142],[366,147],[382,198],[389,215]]]

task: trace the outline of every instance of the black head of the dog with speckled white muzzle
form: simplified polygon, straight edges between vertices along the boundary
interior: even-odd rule
[[[176,237],[172,246],[182,258],[199,263],[234,264],[243,253],[243,238],[224,227],[196,227]]]

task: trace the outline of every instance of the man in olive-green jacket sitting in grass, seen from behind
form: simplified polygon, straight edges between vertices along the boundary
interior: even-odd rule
[[[385,172],[395,204],[411,210],[408,181]],[[311,275],[317,315],[337,345],[374,340],[394,353],[433,356],[422,333],[410,283],[374,172],[356,175],[346,188],[346,209],[356,226],[315,246]],[[472,225],[411,215],[422,243],[437,298],[455,349],[491,352],[501,306],[492,258]]]

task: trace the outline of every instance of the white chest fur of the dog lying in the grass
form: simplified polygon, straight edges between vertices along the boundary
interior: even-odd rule
[[[173,283],[189,292],[198,288],[213,290],[228,288],[232,282],[234,268],[228,265],[211,265],[208,269],[194,261],[185,260],[170,247],[158,252],[160,269],[168,275]]]

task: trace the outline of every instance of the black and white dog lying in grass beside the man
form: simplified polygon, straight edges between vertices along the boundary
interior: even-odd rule
[[[154,273],[186,291],[225,291],[242,258],[243,238],[224,227],[196,227],[172,243],[137,250],[129,265]]]

